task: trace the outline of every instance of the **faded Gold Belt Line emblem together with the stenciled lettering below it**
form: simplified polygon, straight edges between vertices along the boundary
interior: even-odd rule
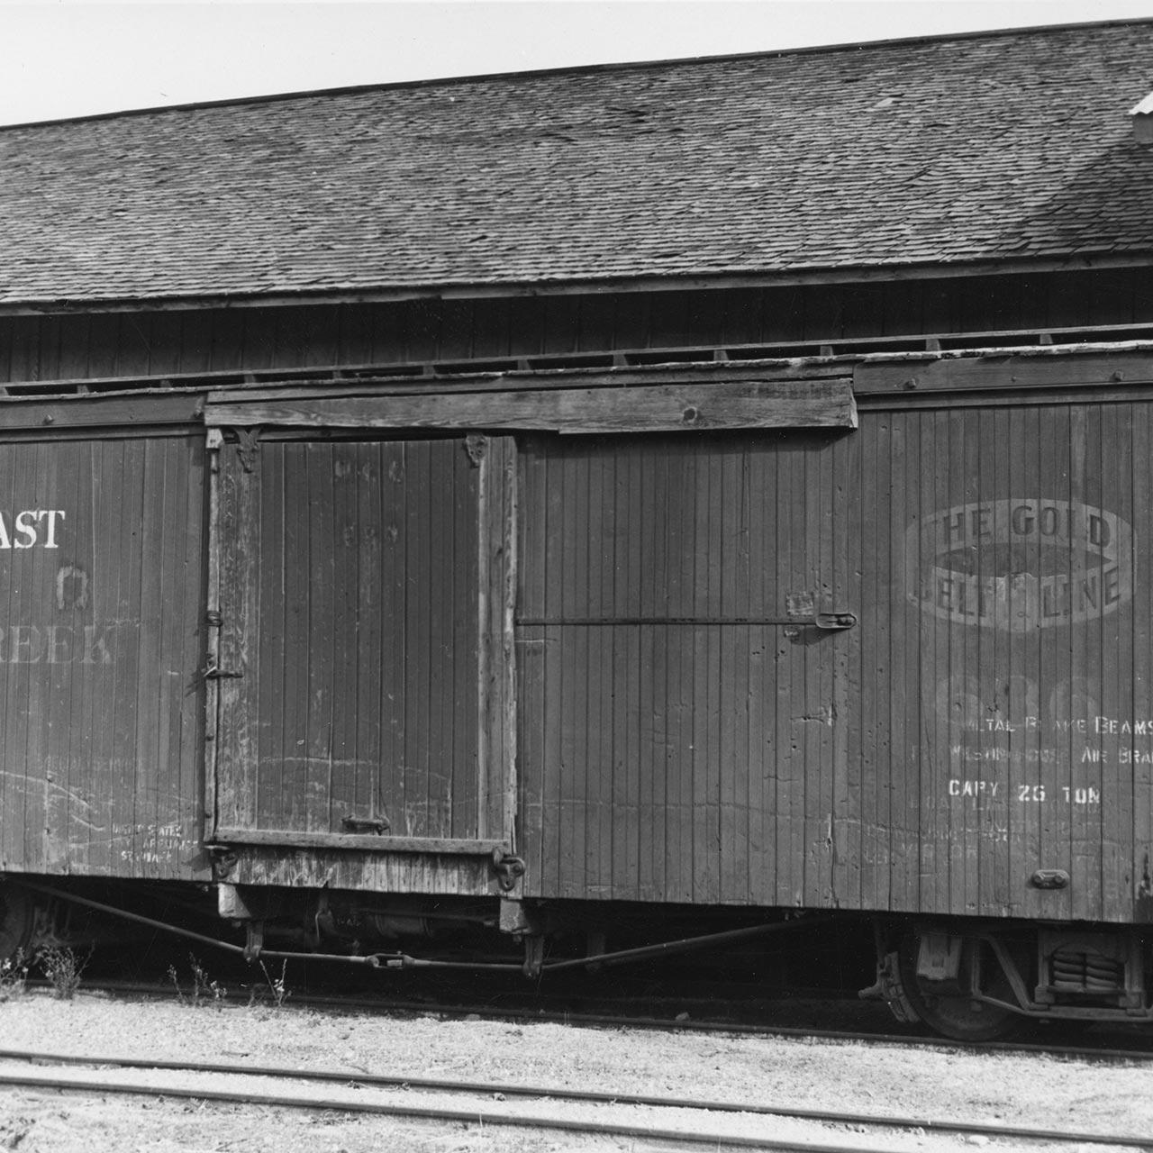
[[[974,804],[986,834],[1003,841],[1008,826],[995,814],[1004,806],[1099,808],[1107,767],[1153,764],[1153,715],[1108,715],[1102,673],[1092,671],[1105,620],[1133,597],[1124,518],[1007,497],[920,517],[904,544],[905,595],[926,639],[930,620],[964,626],[932,641],[944,658],[932,711],[948,741],[945,804]],[[1075,654],[1091,651],[1092,669],[1079,666]]]

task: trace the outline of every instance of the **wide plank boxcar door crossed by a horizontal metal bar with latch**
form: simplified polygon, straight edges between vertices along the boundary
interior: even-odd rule
[[[520,814],[538,895],[829,904],[849,443],[522,447]],[[777,620],[778,624],[748,620]]]

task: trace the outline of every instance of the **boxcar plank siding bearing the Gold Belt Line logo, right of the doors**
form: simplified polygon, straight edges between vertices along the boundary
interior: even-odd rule
[[[857,484],[879,511],[857,566],[862,799],[879,800],[847,904],[1133,915],[1153,761],[1148,425],[1129,404],[861,421]],[[1038,868],[1071,883],[1038,889]]]

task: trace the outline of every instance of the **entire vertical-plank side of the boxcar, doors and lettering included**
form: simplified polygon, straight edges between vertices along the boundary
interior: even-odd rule
[[[537,306],[567,341],[579,306]],[[1153,405],[881,404],[845,435],[270,439],[251,472],[229,442],[221,823],[499,837],[515,789],[529,895],[1153,920]],[[10,436],[0,868],[203,877],[203,446]],[[857,626],[789,635],[801,593]]]

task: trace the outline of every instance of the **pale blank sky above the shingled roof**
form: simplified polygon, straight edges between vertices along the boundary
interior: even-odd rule
[[[1153,0],[0,0],[0,123],[1132,16]]]

